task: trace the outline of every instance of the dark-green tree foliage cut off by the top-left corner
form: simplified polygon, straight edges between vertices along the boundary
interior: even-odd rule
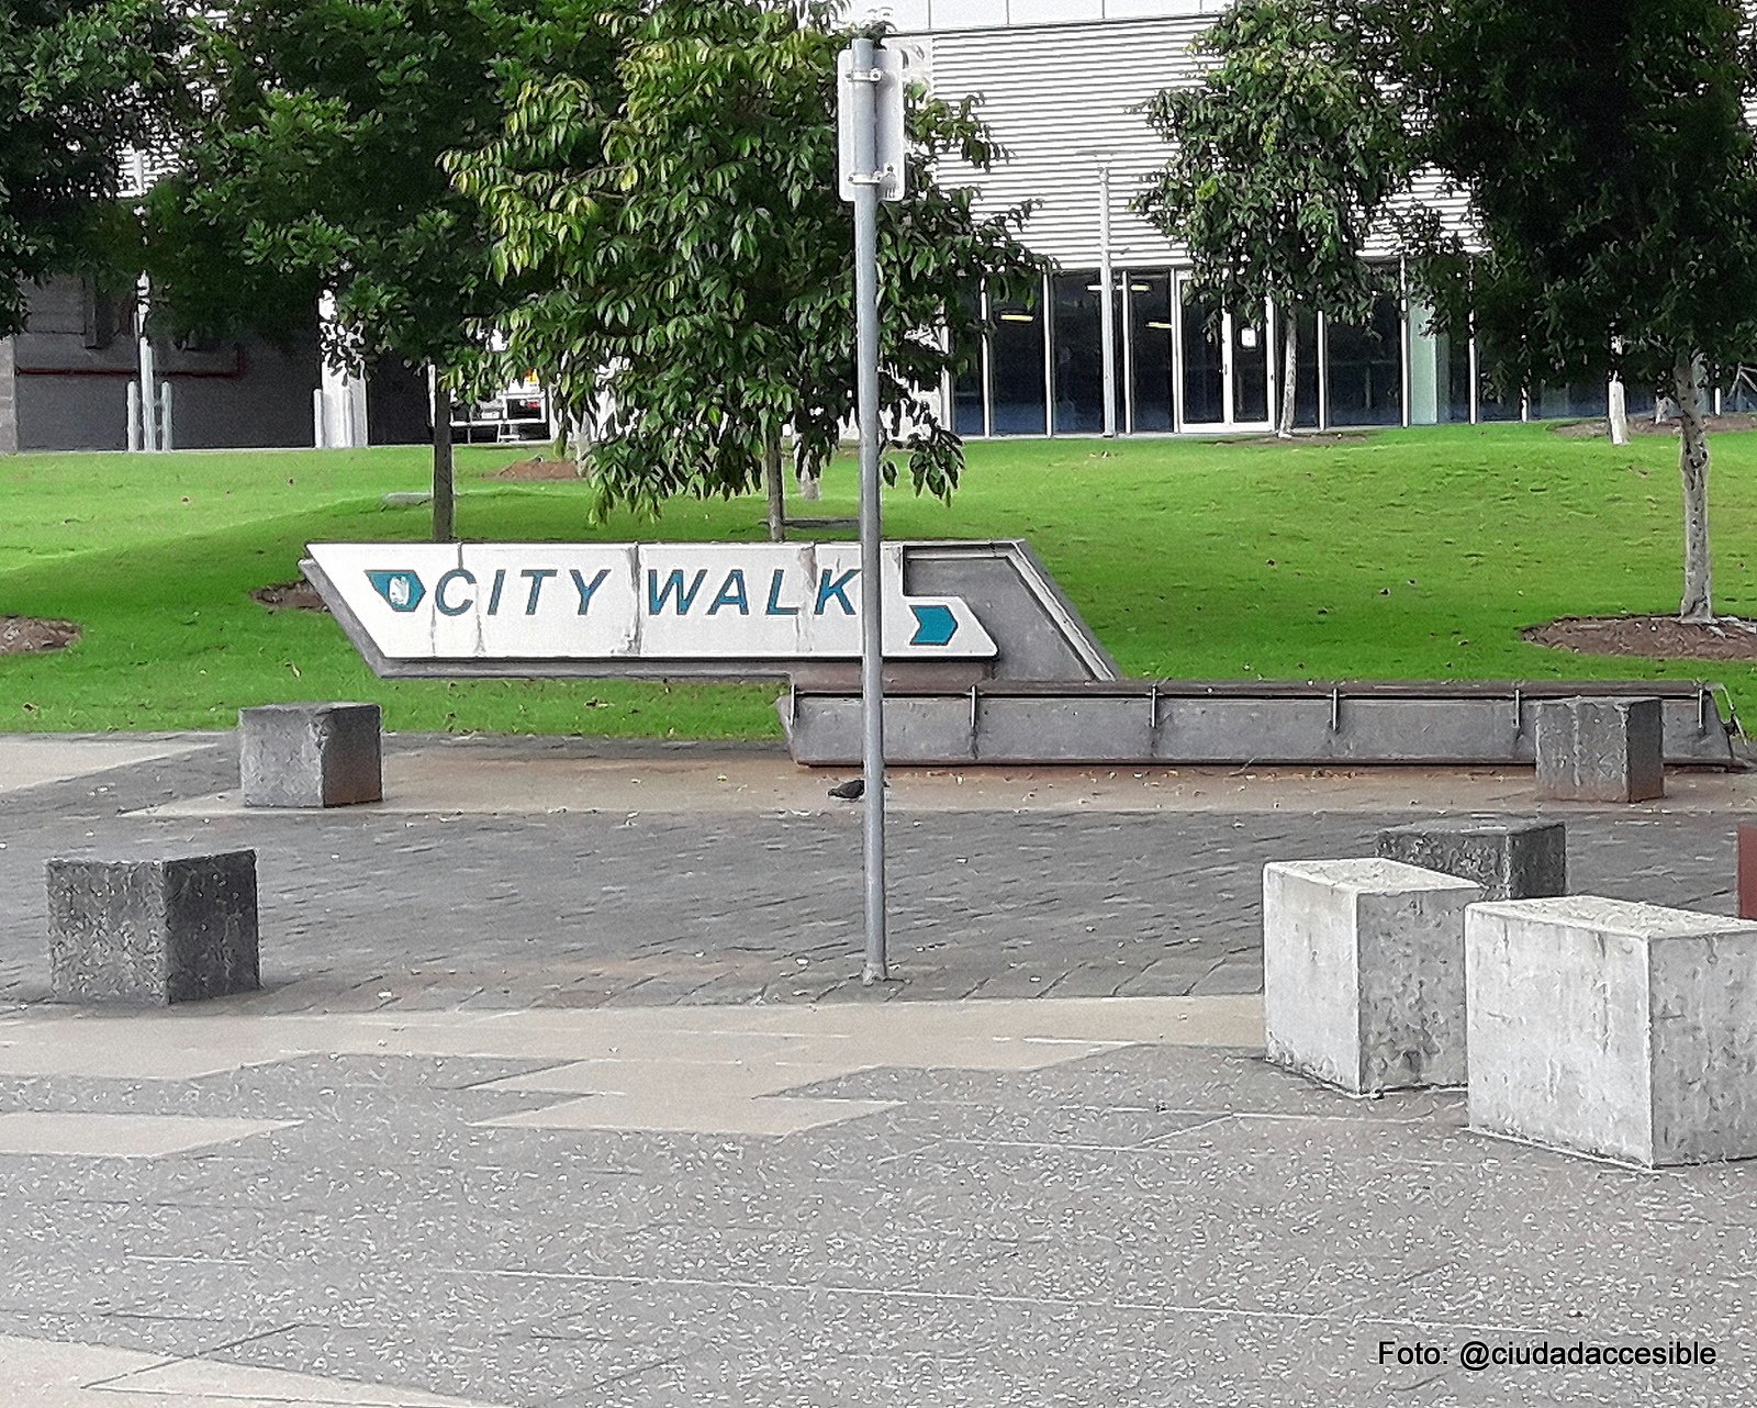
[[[107,262],[128,149],[181,111],[183,39],[162,0],[0,5],[0,337],[26,283]]]

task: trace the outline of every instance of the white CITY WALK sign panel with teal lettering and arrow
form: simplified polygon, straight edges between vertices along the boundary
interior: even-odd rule
[[[313,543],[394,661],[799,661],[861,654],[857,543]],[[884,652],[993,659],[958,598],[905,596],[884,548]]]

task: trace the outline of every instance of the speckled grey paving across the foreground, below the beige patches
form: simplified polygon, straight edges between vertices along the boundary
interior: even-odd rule
[[[1349,1100],[1240,1053],[1121,1048],[908,1090],[863,1072],[845,1083],[910,1104],[778,1143],[485,1139],[437,1116],[487,1093],[429,1088],[445,1065],[199,1083],[225,1107],[318,1076],[337,1109],[372,1111],[283,1130],[271,1157],[0,1158],[4,1332],[517,1408],[1502,1404],[1539,1380],[1393,1373],[1376,1339],[1683,1325],[1757,1345],[1757,1171],[1636,1174],[1483,1139],[1450,1093]],[[1211,1109],[1126,1143],[1163,1095]],[[1541,1383],[1571,1404],[1731,1404],[1746,1357],[1715,1380]]]

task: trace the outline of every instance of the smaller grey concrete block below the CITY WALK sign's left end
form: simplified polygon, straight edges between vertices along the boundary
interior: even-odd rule
[[[378,705],[262,705],[241,708],[237,728],[246,807],[351,807],[385,798]]]

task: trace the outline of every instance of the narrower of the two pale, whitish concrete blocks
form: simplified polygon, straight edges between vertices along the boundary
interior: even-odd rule
[[[1392,860],[1265,867],[1269,1060],[1355,1092],[1462,1085],[1464,912],[1481,898]]]

